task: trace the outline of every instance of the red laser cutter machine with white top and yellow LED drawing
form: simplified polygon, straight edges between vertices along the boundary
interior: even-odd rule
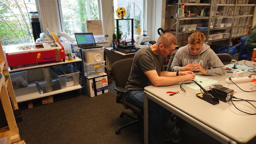
[[[60,42],[42,42],[11,45],[6,48],[9,67],[45,61],[65,61],[64,47]]]

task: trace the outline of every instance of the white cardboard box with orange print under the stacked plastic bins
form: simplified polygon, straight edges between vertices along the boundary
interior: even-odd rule
[[[86,77],[88,96],[94,97],[108,92],[107,74],[95,77]]]

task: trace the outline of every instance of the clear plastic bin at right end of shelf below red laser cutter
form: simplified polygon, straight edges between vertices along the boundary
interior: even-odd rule
[[[62,66],[62,67],[54,67],[58,74],[60,87],[61,89],[65,89],[70,86],[79,85],[79,71],[72,65]]]

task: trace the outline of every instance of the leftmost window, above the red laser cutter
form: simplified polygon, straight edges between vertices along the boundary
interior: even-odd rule
[[[16,0],[0,1],[2,46],[35,42],[28,12],[37,11],[36,2],[35,0],[16,2]]]

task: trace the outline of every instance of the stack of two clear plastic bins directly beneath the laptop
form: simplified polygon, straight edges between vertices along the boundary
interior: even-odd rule
[[[105,61],[104,49],[83,49],[84,59],[84,75],[87,77],[95,77],[104,74]]]

